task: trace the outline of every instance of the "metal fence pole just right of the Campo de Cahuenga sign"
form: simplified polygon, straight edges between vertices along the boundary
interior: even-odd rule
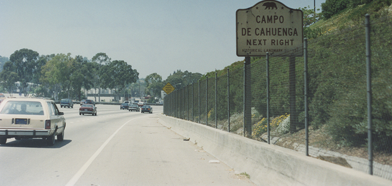
[[[303,59],[304,59],[304,94],[305,94],[305,155],[309,156],[309,124],[308,124],[308,38],[303,43]]]

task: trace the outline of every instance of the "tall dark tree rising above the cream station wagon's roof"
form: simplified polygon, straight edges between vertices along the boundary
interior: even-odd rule
[[[25,96],[28,96],[28,83],[32,82],[34,75],[37,74],[37,60],[39,54],[29,49],[15,51],[10,56],[11,64],[14,66],[13,72],[18,74],[18,81],[21,82],[21,89]]]

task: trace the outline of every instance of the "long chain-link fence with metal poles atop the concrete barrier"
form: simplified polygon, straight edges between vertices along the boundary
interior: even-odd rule
[[[175,90],[164,114],[392,180],[392,21],[378,20],[371,55],[365,24],[346,27],[305,42],[305,57],[253,57]]]

